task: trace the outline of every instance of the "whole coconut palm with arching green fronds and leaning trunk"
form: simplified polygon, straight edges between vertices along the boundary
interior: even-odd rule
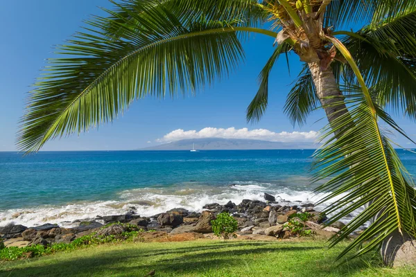
[[[416,1],[124,0],[114,6],[49,60],[30,93],[20,150],[36,152],[50,139],[112,121],[147,95],[196,93],[226,78],[243,60],[241,42],[257,33],[277,46],[259,75],[248,120],[266,110],[279,55],[298,55],[304,68],[285,111],[299,125],[317,107],[327,114],[314,180],[325,180],[318,188],[327,192],[322,201],[333,200],[328,223],[365,206],[331,245],[371,221],[340,257],[381,246],[392,262],[397,247],[416,238],[413,179],[380,125],[406,136],[385,109],[416,118]],[[365,26],[343,30],[358,24]]]

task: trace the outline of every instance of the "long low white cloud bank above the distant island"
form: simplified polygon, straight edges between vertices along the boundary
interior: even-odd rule
[[[268,129],[252,129],[248,128],[236,129],[230,127],[227,129],[206,127],[200,131],[183,129],[175,129],[157,142],[167,143],[171,141],[180,141],[181,139],[257,139],[261,141],[276,142],[314,142],[318,137],[318,132],[272,132]]]

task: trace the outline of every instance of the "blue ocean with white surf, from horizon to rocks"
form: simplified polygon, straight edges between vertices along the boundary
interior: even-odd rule
[[[416,174],[416,154],[398,150]],[[74,220],[134,210],[142,216],[171,208],[201,211],[229,200],[315,202],[314,150],[0,152],[0,226]]]

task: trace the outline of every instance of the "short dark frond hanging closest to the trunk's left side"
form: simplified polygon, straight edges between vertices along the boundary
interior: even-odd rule
[[[293,125],[302,126],[306,123],[306,118],[311,114],[311,111],[318,106],[319,99],[316,96],[311,71],[309,71],[309,66],[305,64],[288,93],[284,113]]]

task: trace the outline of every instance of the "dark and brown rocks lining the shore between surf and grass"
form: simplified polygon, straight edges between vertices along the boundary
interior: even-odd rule
[[[225,205],[218,203],[203,206],[204,211],[196,213],[184,208],[173,208],[166,213],[159,213],[151,217],[141,217],[135,213],[135,209],[124,215],[97,216],[89,221],[76,221],[78,226],[63,228],[58,224],[43,224],[41,226],[26,227],[23,225],[8,225],[0,228],[0,235],[7,247],[25,247],[37,244],[69,243],[76,238],[91,233],[99,235],[118,235],[123,233],[123,224],[128,223],[138,226],[144,231],[146,240],[149,241],[175,241],[193,240],[198,238],[214,238],[211,228],[211,220],[218,213],[230,213],[239,224],[236,235],[248,240],[270,240],[291,238],[290,231],[285,230],[283,224],[288,222],[289,217],[295,213],[308,212],[312,217],[304,222],[306,229],[313,230],[315,235],[329,238],[340,231],[344,224],[336,222],[331,226],[322,225],[326,218],[315,211],[313,204],[288,204],[287,202],[276,202],[275,197],[264,194],[264,201],[243,199],[239,204],[229,201]],[[103,227],[106,224],[111,226]],[[182,235],[181,235],[182,234]]]

